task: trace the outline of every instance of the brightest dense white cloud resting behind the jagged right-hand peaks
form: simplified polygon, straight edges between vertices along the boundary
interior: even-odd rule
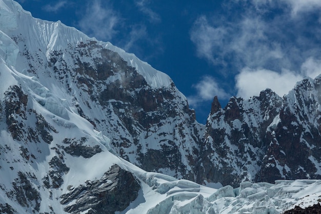
[[[272,89],[279,96],[287,94],[296,82],[303,79],[303,75],[288,70],[281,73],[266,69],[243,69],[235,76],[237,95],[244,99],[259,95],[267,88]]]

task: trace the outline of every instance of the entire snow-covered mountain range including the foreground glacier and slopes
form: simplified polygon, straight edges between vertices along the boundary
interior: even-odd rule
[[[0,213],[280,213],[318,203],[319,180],[251,182],[320,178],[320,81],[284,98],[233,97],[224,109],[214,98],[202,125],[168,75],[0,0]]]

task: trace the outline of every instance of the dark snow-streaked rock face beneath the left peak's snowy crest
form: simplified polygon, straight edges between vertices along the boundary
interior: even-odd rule
[[[63,56],[73,63],[66,64]],[[166,87],[152,86],[118,53],[95,41],[50,52],[49,61],[56,80],[68,75],[65,90],[79,115],[112,139],[118,155],[148,171],[194,179],[202,125],[170,79]]]

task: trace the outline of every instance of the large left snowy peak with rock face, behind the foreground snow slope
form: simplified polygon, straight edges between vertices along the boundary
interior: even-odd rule
[[[137,166],[194,180],[203,125],[168,75],[110,43],[11,7],[3,7],[0,21],[10,44],[6,61],[34,77],[28,90],[38,104],[67,121],[70,111],[82,116]]]

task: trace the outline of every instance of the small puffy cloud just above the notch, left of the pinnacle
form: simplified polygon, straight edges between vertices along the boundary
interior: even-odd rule
[[[189,96],[189,105],[196,107],[199,103],[213,100],[217,95],[219,99],[228,99],[230,95],[220,88],[218,83],[211,76],[203,76],[202,79],[192,86],[196,89],[196,95]]]

